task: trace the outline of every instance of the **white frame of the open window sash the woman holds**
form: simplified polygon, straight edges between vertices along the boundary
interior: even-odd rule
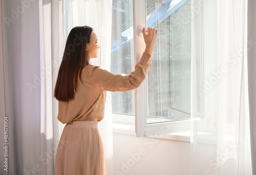
[[[134,14],[134,60],[137,64],[145,49],[143,36],[139,36],[140,27],[145,27],[146,16],[145,0],[133,0]],[[205,119],[198,119],[200,125],[205,126]],[[158,123],[147,123],[147,81],[144,81],[135,90],[135,132],[137,137],[146,137],[190,131],[191,119],[176,120]]]

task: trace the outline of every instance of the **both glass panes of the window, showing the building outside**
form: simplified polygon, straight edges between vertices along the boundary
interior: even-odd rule
[[[190,0],[145,1],[146,24],[159,30],[147,75],[147,123],[189,119]],[[133,71],[132,0],[113,0],[111,48],[111,72]],[[112,111],[135,115],[134,90],[112,92]]]

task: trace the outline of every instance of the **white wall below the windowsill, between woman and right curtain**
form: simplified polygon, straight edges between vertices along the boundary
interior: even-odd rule
[[[189,142],[114,133],[113,146],[114,175],[191,174]]]

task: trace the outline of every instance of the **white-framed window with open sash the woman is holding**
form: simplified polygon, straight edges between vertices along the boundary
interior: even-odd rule
[[[190,11],[190,0],[113,0],[112,72],[130,73],[139,61],[145,47],[138,27],[159,30],[147,80],[135,91],[112,92],[113,115],[135,115],[138,137],[189,130]]]

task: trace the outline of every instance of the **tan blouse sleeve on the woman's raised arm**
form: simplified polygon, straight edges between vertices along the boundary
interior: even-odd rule
[[[99,66],[93,66],[89,71],[89,81],[98,90],[115,92],[136,89],[145,80],[152,59],[152,55],[143,53],[130,74],[114,74]]]

